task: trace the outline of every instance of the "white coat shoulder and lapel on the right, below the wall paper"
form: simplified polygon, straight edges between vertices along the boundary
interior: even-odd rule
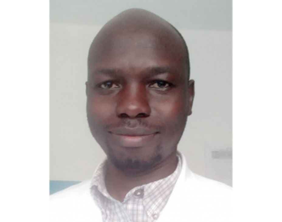
[[[186,168],[177,181],[162,217],[163,221],[232,222],[233,188],[201,177]]]

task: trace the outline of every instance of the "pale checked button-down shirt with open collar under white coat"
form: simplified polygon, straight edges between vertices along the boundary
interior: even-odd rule
[[[178,155],[176,171],[167,178],[132,189],[123,203],[113,199],[105,186],[105,162],[95,172],[91,194],[100,207],[104,222],[153,222],[166,206],[182,169]]]

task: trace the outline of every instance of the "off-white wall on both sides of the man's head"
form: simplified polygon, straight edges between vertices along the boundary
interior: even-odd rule
[[[89,179],[105,158],[88,129],[84,87],[88,48],[100,28],[49,23],[49,180]],[[205,175],[205,147],[233,147],[233,32],[180,31],[196,99],[179,148]]]

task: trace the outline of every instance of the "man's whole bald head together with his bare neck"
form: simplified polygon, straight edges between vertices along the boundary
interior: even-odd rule
[[[177,168],[177,145],[194,101],[186,59],[177,32],[138,9],[112,19],[91,45],[88,122],[108,157],[108,193],[120,202]]]

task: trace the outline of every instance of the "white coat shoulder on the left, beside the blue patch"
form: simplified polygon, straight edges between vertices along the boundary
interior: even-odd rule
[[[86,181],[49,196],[49,222],[95,219],[97,206],[90,188],[91,182]]]

